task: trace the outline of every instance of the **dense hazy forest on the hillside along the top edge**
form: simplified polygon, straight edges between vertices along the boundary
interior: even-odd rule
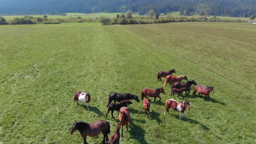
[[[0,14],[125,13],[180,11],[181,15],[249,17],[255,0],[0,0]]]

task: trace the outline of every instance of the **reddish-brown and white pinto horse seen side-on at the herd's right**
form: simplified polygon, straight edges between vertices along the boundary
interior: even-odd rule
[[[188,110],[190,109],[188,101],[182,101],[181,103],[179,103],[174,99],[166,100],[165,107],[166,107],[165,115],[166,115],[166,112],[169,113],[169,110],[172,107],[173,110],[179,111],[179,119],[184,117],[184,111],[186,110],[186,107],[188,107]]]

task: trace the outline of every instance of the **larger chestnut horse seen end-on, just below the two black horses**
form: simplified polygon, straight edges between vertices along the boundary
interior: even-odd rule
[[[123,135],[124,125],[126,125],[126,130],[128,131],[128,123],[131,121],[129,109],[127,107],[121,107],[118,118],[119,118],[119,121],[121,122],[122,137],[124,137]]]

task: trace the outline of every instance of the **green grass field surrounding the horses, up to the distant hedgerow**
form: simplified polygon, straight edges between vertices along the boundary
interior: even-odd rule
[[[69,133],[75,120],[108,121],[110,138],[118,112],[105,117],[109,93],[140,98],[142,88],[162,87],[156,75],[170,69],[215,93],[203,101],[191,86],[182,121],[177,111],[164,115],[170,85],[149,118],[133,100],[120,143],[256,143],[255,29],[224,22],[0,26],[0,143],[83,143],[78,131]],[[90,93],[90,111],[73,103],[75,91]]]

